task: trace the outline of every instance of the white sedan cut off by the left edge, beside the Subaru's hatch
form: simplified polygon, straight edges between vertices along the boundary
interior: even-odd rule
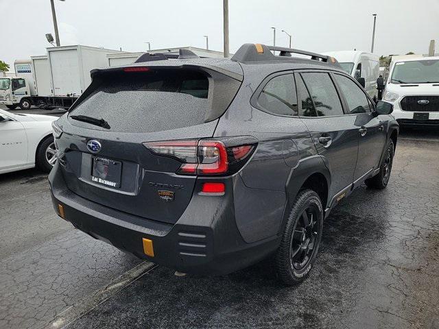
[[[0,110],[0,173],[33,167],[49,172],[56,162],[51,127],[56,119]]]

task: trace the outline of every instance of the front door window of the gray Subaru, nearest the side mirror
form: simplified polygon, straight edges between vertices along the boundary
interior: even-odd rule
[[[335,81],[342,90],[346,103],[348,103],[349,113],[366,113],[370,112],[368,97],[363,90],[348,77],[335,74]]]

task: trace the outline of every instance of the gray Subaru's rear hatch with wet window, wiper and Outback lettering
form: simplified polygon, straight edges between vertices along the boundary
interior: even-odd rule
[[[236,75],[200,66],[98,71],[58,121],[60,167],[68,188],[104,206],[175,223],[191,200],[197,176],[176,173],[185,156],[158,154],[144,143],[211,138],[240,85]]]

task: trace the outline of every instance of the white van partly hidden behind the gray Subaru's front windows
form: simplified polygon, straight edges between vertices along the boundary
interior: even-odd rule
[[[366,51],[329,51],[324,55],[335,58],[342,69],[355,79],[364,78],[364,89],[374,101],[378,101],[377,79],[379,57]]]

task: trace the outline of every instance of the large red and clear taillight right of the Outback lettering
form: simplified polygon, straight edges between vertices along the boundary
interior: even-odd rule
[[[143,143],[161,156],[176,158],[182,162],[180,175],[221,175],[228,173],[230,165],[246,158],[254,145],[226,147],[222,141],[163,141]]]

